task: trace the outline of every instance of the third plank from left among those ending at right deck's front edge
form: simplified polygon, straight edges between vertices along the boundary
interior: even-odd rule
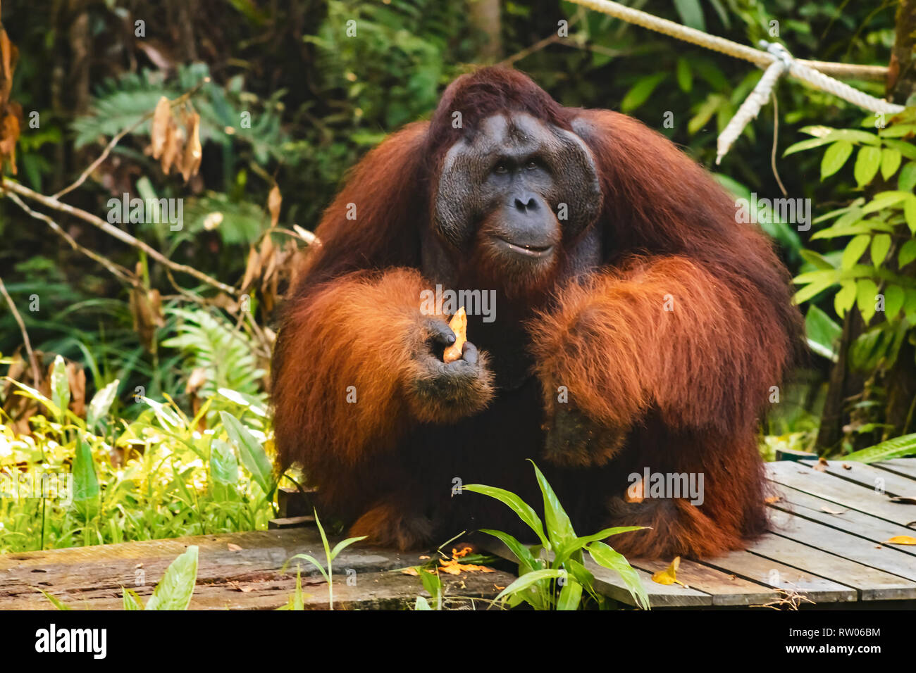
[[[767,533],[764,537],[772,535]],[[731,551],[714,559],[703,559],[703,564],[733,573],[749,581],[757,581],[784,592],[798,592],[815,603],[855,602],[855,589],[805,570],[791,568],[772,559],[765,559],[749,551]]]

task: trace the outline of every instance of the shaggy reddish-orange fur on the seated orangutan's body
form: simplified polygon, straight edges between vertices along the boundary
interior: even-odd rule
[[[485,374],[431,396],[416,357],[429,320],[445,318],[420,313],[433,284],[420,253],[442,157],[490,114],[513,112],[583,138],[602,211],[562,242],[537,292],[500,295],[494,325],[470,320],[487,372],[511,356],[531,375],[500,388]],[[304,468],[322,515],[401,548],[476,527],[521,534],[504,505],[452,489],[455,479],[487,483],[540,503],[531,458],[581,535],[651,526],[610,540],[624,553],[709,556],[764,529],[757,419],[791,363],[800,318],[767,238],[736,223],[725,190],[660,134],[622,114],[562,107],[518,71],[477,71],[453,82],[431,122],[360,162],[316,233],[322,246],[283,316],[272,395],[281,467]],[[462,259],[462,279],[480,285],[459,288],[493,282],[476,251]],[[627,475],[645,467],[703,472],[703,505],[627,502]]]

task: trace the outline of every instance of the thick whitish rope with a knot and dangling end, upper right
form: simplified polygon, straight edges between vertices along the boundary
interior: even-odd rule
[[[792,58],[789,51],[780,44],[762,41],[761,46],[767,49],[763,51],[761,49],[753,49],[746,45],[738,44],[730,39],[709,35],[696,28],[682,26],[666,18],[653,16],[646,12],[639,11],[638,9],[611,2],[611,0],[570,0],[570,2],[589,9],[594,9],[594,11],[601,12],[608,16],[614,16],[622,21],[627,21],[627,23],[649,28],[649,30],[655,30],[663,35],[669,35],[672,38],[682,39],[685,42],[699,45],[705,49],[719,51],[727,56],[734,56],[736,59],[749,60],[760,68],[766,68],[757,86],[750,92],[747,96],[747,100],[741,104],[738,112],[728,125],[725,126],[722,135],[719,136],[717,147],[718,157],[716,157],[715,163],[719,163],[719,161],[722,160],[728,148],[731,147],[736,138],[741,135],[747,123],[758,115],[760,108],[769,98],[769,92],[773,90],[780,76],[786,71],[788,71],[792,77],[807,81],[818,89],[833,93],[834,96],[858,105],[865,110],[870,110],[871,112],[898,114],[904,110],[903,105],[882,101],[865,92],[860,92],[842,81],[834,80],[834,78],[825,75],[823,71],[817,71],[812,68],[812,64],[816,63],[819,68],[825,70],[825,64],[819,61]],[[848,67],[846,67],[845,72],[849,72]]]

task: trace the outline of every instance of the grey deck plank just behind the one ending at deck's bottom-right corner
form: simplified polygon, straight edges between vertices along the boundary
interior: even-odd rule
[[[916,582],[916,560],[896,548],[877,545],[871,540],[788,512],[774,511],[769,529],[782,537]]]

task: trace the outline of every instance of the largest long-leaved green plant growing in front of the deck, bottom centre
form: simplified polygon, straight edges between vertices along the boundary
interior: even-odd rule
[[[502,541],[518,559],[518,580],[500,592],[496,601],[503,600],[509,606],[527,602],[535,610],[577,610],[586,592],[604,606],[604,597],[594,590],[594,575],[584,565],[583,552],[588,551],[595,563],[616,570],[637,605],[648,610],[649,595],[636,570],[622,554],[601,541],[644,526],[617,526],[594,535],[577,536],[551,484],[534,461],[530,462],[544,498],[544,521],[534,508],[510,491],[479,483],[463,486],[463,490],[489,495],[507,505],[540,539],[540,545],[528,548],[502,531],[482,531]]]

